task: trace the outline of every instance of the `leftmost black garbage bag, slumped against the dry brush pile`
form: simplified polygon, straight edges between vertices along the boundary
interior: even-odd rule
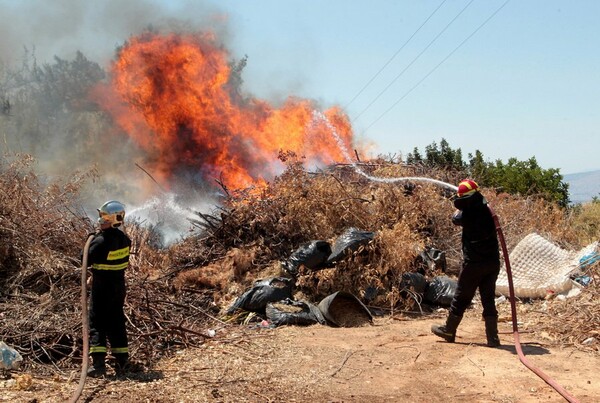
[[[269,302],[292,297],[293,280],[285,277],[272,277],[257,280],[252,288],[240,295],[227,310],[228,314],[237,309],[263,313]]]

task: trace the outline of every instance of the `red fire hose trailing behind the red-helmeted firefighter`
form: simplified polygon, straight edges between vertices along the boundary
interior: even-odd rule
[[[544,374],[539,368],[533,366],[527,358],[525,354],[523,354],[523,349],[521,348],[521,342],[519,341],[519,329],[517,326],[517,307],[515,304],[515,290],[512,282],[512,272],[510,269],[510,260],[508,258],[508,251],[506,249],[506,241],[504,240],[504,234],[502,233],[502,227],[500,227],[500,221],[498,220],[498,216],[494,213],[492,207],[488,204],[488,208],[492,213],[492,218],[494,219],[494,224],[496,225],[496,231],[498,232],[498,240],[500,241],[500,245],[502,247],[502,254],[504,255],[504,262],[506,267],[506,277],[508,278],[508,290],[510,294],[510,309],[512,313],[512,322],[513,322],[513,335],[515,337],[515,349],[517,350],[517,354],[519,355],[519,360],[533,371],[537,376],[542,378],[548,385],[550,385],[554,390],[561,394],[568,402],[577,403],[579,402],[575,397],[571,396],[562,386],[560,386],[556,381],[548,377]]]

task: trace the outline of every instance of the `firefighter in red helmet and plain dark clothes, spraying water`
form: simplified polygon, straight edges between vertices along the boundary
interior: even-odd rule
[[[458,185],[457,208],[452,223],[462,227],[463,264],[450,312],[444,325],[433,325],[431,331],[453,343],[463,314],[479,288],[487,345],[498,347],[498,311],[496,310],[496,279],[500,272],[498,236],[487,201],[475,181],[465,179]]]

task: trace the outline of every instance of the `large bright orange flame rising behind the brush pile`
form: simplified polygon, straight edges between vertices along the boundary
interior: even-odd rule
[[[143,34],[120,49],[110,86],[97,93],[163,185],[180,175],[232,188],[260,184],[283,169],[280,151],[313,163],[344,160],[338,140],[352,147],[346,115],[323,112],[336,139],[310,124],[312,101],[290,97],[274,107],[243,95],[228,57],[211,34]]]

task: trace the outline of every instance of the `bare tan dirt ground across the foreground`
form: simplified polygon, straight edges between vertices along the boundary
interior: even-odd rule
[[[476,312],[456,343],[430,332],[444,314],[384,316],[372,325],[261,328],[227,326],[201,348],[180,351],[125,378],[88,379],[81,402],[561,402],[565,399],[517,356],[512,326],[500,348],[485,347]],[[597,353],[560,348],[522,330],[527,358],[580,402],[600,401]],[[110,373],[109,373],[110,374]],[[0,400],[68,401],[79,374],[33,375],[27,390],[13,373]]]

